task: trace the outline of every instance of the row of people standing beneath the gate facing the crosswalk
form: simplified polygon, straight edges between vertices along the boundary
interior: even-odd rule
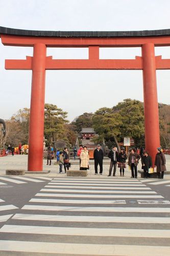
[[[48,147],[48,155],[47,155],[47,164],[50,160],[54,158],[52,147]],[[87,150],[87,146],[80,145],[79,150],[77,151],[77,148],[74,148],[74,159],[76,159],[76,156],[79,158],[80,161],[80,170],[87,170],[90,168],[89,164],[89,153]],[[116,169],[119,168],[119,175],[125,176],[125,169],[128,166],[131,170],[131,178],[137,178],[137,166],[139,164],[139,160],[141,160],[141,168],[143,169],[144,178],[149,178],[150,174],[153,173],[153,162],[152,158],[149,155],[148,151],[145,151],[142,147],[140,148],[140,151],[136,148],[131,148],[129,154],[125,151],[125,148],[122,147],[120,149],[120,152],[118,153],[117,147],[113,146],[112,150],[109,152],[108,157],[110,158],[110,166],[108,169],[108,176],[112,175],[113,170],[113,176],[116,176]],[[98,165],[99,165],[99,174],[103,174],[103,159],[104,159],[104,153],[101,148],[101,145],[98,144],[98,146],[95,148],[93,153],[94,158],[94,174],[98,174]],[[64,167],[64,171],[66,173],[67,170],[69,170],[70,162],[69,162],[69,153],[67,147],[64,147],[63,151],[57,152],[57,162],[59,163],[59,173],[62,174],[62,167]],[[166,159],[163,154],[162,148],[157,148],[157,154],[155,157],[154,166],[156,166],[156,172],[159,179],[163,179],[164,172],[166,170]]]

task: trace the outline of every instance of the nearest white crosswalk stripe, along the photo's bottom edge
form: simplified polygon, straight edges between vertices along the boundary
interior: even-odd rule
[[[169,246],[137,246],[119,244],[73,244],[73,243],[50,243],[29,241],[3,241],[0,240],[2,251],[58,253],[58,254],[82,254],[86,255],[129,255],[129,256],[169,256]],[[137,253],[136,253],[137,252]],[[163,252],[163,254],[162,254]]]

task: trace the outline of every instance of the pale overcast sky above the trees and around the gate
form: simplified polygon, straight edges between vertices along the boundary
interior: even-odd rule
[[[170,29],[169,0],[0,0],[0,26],[26,30],[130,31]],[[170,58],[170,47],[155,48]],[[30,108],[31,71],[5,70],[5,59],[25,59],[33,49],[0,43],[0,118]],[[47,48],[53,58],[88,58],[87,49]],[[140,48],[100,49],[100,58],[135,58]],[[170,71],[157,71],[158,101],[169,104]],[[45,102],[68,112],[112,107],[126,98],[143,101],[142,71],[46,71]]]

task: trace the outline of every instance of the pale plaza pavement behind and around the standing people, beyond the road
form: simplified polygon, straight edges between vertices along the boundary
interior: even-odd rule
[[[166,157],[166,169],[170,170],[170,156],[165,155]],[[71,162],[71,170],[77,170],[79,169],[79,159],[70,159]],[[15,155],[15,156],[6,156],[6,157],[0,157],[0,175],[6,175],[6,169],[14,168],[14,169],[25,169],[27,170],[27,164],[28,164],[28,156],[27,155]],[[90,160],[90,170],[88,170],[88,177],[89,178],[106,178],[109,173],[109,165],[110,165],[110,159],[104,158],[104,164],[103,164],[103,175],[94,175],[94,160]],[[66,174],[59,174],[59,165],[56,164],[56,159],[52,160],[52,165],[46,165],[46,159],[43,160],[43,170],[51,170],[48,174],[43,174],[45,176],[66,176]],[[64,170],[64,168],[63,168]],[[99,166],[98,166],[99,170]],[[138,170],[141,170],[141,161],[138,164]],[[26,176],[37,176],[38,174],[26,174]],[[40,173],[40,175],[42,175]],[[116,170],[116,177],[119,177],[119,168]],[[125,178],[131,177],[131,171],[128,168],[125,169]],[[107,177],[112,178],[112,177]],[[138,178],[140,178],[140,175],[138,174]],[[170,179],[170,175],[165,175],[164,179]]]

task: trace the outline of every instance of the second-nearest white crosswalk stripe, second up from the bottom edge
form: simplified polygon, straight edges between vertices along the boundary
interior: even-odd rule
[[[63,236],[88,236],[89,228],[42,227],[26,225],[4,225],[1,232],[58,234]],[[90,228],[90,236],[95,237],[140,237],[170,238],[170,230],[161,229],[124,229],[124,228]]]

